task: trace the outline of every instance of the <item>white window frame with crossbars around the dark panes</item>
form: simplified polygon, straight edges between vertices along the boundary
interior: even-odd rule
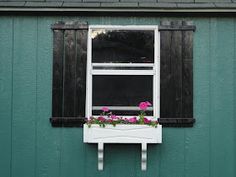
[[[92,63],[92,30],[150,30],[154,31],[154,63]],[[92,76],[93,75],[151,75],[153,76],[153,116],[152,119],[160,117],[160,32],[158,26],[153,25],[90,25],[87,41],[87,78],[86,78],[86,117],[92,115]],[[99,70],[94,66],[102,67],[153,67],[152,70]],[[140,74],[142,73],[142,74]],[[144,100],[145,101],[145,100]],[[147,100],[148,101],[148,100]],[[122,109],[120,107],[117,107]],[[130,107],[131,108],[131,107]],[[97,107],[99,109],[99,107]],[[131,108],[135,110],[134,107]],[[112,110],[112,109],[110,109]],[[116,110],[116,108],[113,108]],[[124,115],[125,116],[125,115]],[[130,117],[130,116],[125,116]],[[147,116],[148,117],[148,116]]]

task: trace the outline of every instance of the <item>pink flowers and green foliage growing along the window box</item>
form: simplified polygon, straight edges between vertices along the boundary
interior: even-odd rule
[[[158,122],[155,120],[150,120],[146,116],[145,111],[147,108],[151,106],[151,103],[148,101],[141,102],[139,103],[139,109],[140,113],[138,116],[134,116],[131,118],[125,118],[125,117],[120,117],[112,114],[112,112],[109,112],[108,107],[103,107],[102,114],[98,116],[97,118],[95,117],[90,117],[87,119],[86,124],[91,127],[92,124],[98,124],[101,127],[105,127],[107,124],[116,126],[116,124],[140,124],[140,125],[150,125],[153,127],[157,127]]]

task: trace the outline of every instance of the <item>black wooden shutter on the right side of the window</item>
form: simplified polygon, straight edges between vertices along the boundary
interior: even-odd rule
[[[185,21],[162,21],[160,119],[163,126],[193,126],[193,32]]]

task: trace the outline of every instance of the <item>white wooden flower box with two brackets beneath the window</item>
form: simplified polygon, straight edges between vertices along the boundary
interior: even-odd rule
[[[141,169],[147,169],[147,144],[162,143],[162,126],[117,124],[100,127],[84,124],[84,143],[98,143],[98,170],[103,170],[105,143],[141,144]]]

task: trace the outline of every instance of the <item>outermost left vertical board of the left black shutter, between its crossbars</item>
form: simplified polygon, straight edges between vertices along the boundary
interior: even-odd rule
[[[52,91],[52,116],[62,116],[63,110],[63,31],[53,32],[53,91]]]

